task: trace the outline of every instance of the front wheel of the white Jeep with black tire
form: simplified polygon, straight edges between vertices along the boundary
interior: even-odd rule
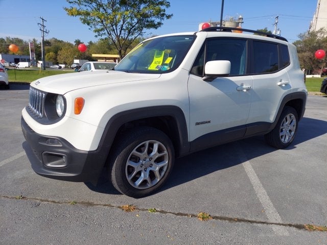
[[[122,136],[115,145],[109,157],[109,177],[118,191],[142,198],[165,183],[175,160],[173,144],[165,133],[139,127]]]

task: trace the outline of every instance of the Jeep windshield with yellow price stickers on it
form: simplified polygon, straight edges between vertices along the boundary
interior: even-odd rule
[[[188,53],[194,35],[167,36],[138,44],[114,70],[162,74],[176,69]]]

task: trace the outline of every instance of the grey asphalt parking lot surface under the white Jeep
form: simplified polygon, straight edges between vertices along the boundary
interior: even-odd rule
[[[105,178],[34,173],[20,129],[28,89],[0,90],[0,244],[327,244],[327,232],[305,229],[327,226],[327,96],[309,95],[290,148],[254,137],[201,151],[177,159],[158,193],[132,199]]]

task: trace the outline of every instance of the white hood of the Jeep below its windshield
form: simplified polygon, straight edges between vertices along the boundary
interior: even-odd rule
[[[69,91],[114,83],[158,79],[160,74],[138,74],[123,71],[74,72],[40,78],[31,83],[39,90],[65,94]]]

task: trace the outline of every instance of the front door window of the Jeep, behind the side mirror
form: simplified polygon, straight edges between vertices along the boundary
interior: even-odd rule
[[[191,74],[202,76],[204,64],[208,61],[229,60],[230,76],[244,75],[246,72],[246,43],[245,39],[207,39],[193,64]]]

